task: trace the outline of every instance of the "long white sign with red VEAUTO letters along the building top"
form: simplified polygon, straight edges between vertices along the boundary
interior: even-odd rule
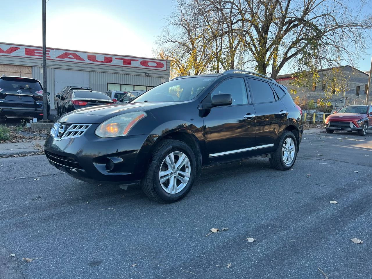
[[[42,48],[0,43],[0,55],[41,59]],[[47,48],[47,59],[88,64],[143,68],[148,70],[150,69],[161,71],[167,70],[166,60],[92,52],[81,52],[58,48]]]

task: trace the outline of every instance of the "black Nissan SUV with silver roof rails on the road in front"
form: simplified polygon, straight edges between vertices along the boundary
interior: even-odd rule
[[[187,195],[203,166],[269,158],[289,170],[300,109],[271,78],[241,70],[179,77],[129,103],[67,113],[45,141],[49,162],[84,181],[140,181],[161,203]]]

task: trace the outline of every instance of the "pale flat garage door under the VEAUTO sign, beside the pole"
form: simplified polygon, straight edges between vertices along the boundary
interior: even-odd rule
[[[54,70],[54,91],[56,94],[66,86],[89,87],[89,72],[75,70]],[[55,100],[57,104],[57,100]]]

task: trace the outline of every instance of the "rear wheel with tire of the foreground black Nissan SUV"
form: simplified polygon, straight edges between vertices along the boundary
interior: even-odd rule
[[[286,145],[288,147],[288,143],[291,143],[289,146],[294,145],[294,153],[292,154],[292,160],[290,163],[286,163],[283,156],[285,156],[285,151],[283,151],[283,145]],[[292,150],[292,148],[290,149]],[[271,154],[271,158],[269,159],[271,167],[277,170],[289,170],[294,165],[296,158],[297,158],[297,140],[295,135],[291,131],[284,131],[282,137],[280,138],[278,148],[276,148],[275,152]],[[284,155],[283,155],[284,154]],[[291,157],[286,157],[286,159],[290,159]]]

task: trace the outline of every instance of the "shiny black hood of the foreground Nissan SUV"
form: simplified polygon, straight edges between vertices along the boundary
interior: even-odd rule
[[[62,115],[58,122],[74,124],[94,124],[127,112],[147,111],[153,108],[174,105],[179,102],[166,103],[120,103],[115,105],[93,106]]]

